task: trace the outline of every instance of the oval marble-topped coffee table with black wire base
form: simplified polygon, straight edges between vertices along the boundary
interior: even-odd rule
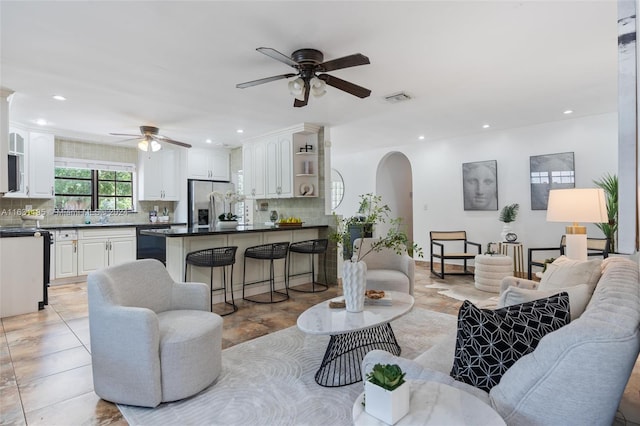
[[[320,302],[298,317],[298,328],[308,334],[329,334],[316,383],[326,387],[350,385],[362,380],[360,365],[367,352],[382,349],[400,355],[400,345],[389,324],[413,307],[413,296],[385,291],[391,306],[365,305],[362,312],[330,308],[329,301]]]

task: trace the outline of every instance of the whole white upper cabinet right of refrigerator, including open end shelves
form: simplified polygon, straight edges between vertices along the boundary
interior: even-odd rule
[[[244,194],[250,198],[318,196],[318,132],[302,124],[243,144]]]

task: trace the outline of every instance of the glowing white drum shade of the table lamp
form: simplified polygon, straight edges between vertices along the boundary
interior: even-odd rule
[[[547,222],[606,223],[609,221],[602,188],[552,189]]]

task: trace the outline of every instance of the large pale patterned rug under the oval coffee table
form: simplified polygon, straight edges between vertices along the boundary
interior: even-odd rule
[[[456,317],[414,308],[391,324],[402,356],[415,358],[455,332]],[[362,382],[325,388],[314,380],[328,342],[289,327],[225,349],[220,377],[191,398],[118,407],[130,425],[351,425]]]

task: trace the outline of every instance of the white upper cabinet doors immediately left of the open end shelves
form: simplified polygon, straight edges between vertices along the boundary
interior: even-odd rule
[[[267,198],[293,197],[291,133],[277,134],[266,142]]]

